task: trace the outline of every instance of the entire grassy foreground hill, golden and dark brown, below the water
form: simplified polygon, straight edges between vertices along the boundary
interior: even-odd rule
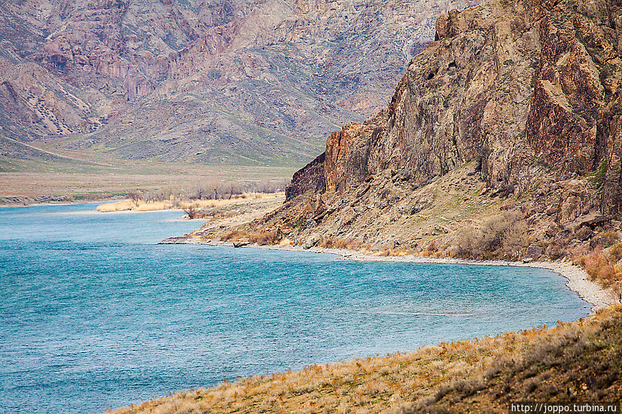
[[[621,361],[614,306],[569,324],[225,381],[113,413],[507,413],[516,401],[619,401]]]

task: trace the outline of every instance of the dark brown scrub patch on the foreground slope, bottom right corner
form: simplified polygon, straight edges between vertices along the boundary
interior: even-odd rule
[[[622,308],[567,324],[482,375],[437,388],[415,413],[507,413],[509,402],[615,402],[622,397]]]

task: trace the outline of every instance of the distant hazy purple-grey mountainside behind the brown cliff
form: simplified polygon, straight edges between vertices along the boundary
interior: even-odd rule
[[[385,106],[435,17],[470,4],[1,1],[0,161],[298,168]]]

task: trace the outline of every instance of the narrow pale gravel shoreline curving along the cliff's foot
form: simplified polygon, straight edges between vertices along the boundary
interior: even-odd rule
[[[206,246],[234,247],[232,242],[220,242],[217,240],[206,240],[187,237],[171,237],[164,239],[160,244],[203,244]],[[402,263],[428,263],[428,264],[466,264],[471,266],[513,266],[513,267],[529,267],[541,268],[557,273],[566,279],[566,287],[575,292],[583,301],[591,305],[590,315],[596,313],[600,309],[607,308],[616,304],[612,293],[595,282],[592,282],[585,270],[569,263],[569,262],[507,262],[505,260],[471,260],[471,259],[455,259],[453,257],[425,257],[417,255],[404,256],[380,256],[368,253],[361,253],[357,250],[348,250],[342,248],[321,248],[312,247],[305,249],[302,246],[280,246],[278,244],[270,244],[260,246],[258,244],[249,244],[240,248],[261,248],[264,250],[283,250],[296,251],[306,253],[328,253],[340,256],[341,260],[353,260],[361,262],[402,262]]]

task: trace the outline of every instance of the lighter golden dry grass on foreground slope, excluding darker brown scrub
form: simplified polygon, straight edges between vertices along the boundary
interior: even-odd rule
[[[302,371],[180,391],[160,400],[119,408],[114,413],[387,412],[410,402],[435,402],[456,389],[473,395],[482,388],[480,382],[485,377],[502,377],[506,371],[508,375],[515,373],[516,366],[511,362],[544,360],[549,351],[557,349],[544,344],[562,346],[565,338],[578,337],[578,333],[594,337],[603,321],[612,318],[622,320],[620,308],[571,324],[558,323],[552,328],[424,346],[414,353],[313,365]]]

